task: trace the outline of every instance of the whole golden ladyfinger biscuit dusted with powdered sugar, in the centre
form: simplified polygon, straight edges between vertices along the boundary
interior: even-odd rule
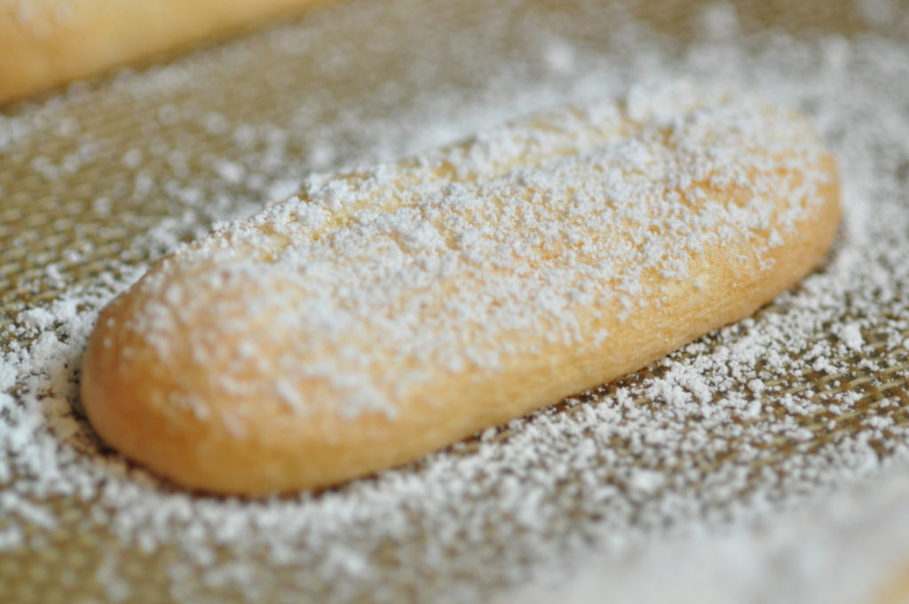
[[[644,367],[817,265],[804,118],[677,84],[336,176],[215,227],[104,309],[82,401],[188,488],[334,485]]]

